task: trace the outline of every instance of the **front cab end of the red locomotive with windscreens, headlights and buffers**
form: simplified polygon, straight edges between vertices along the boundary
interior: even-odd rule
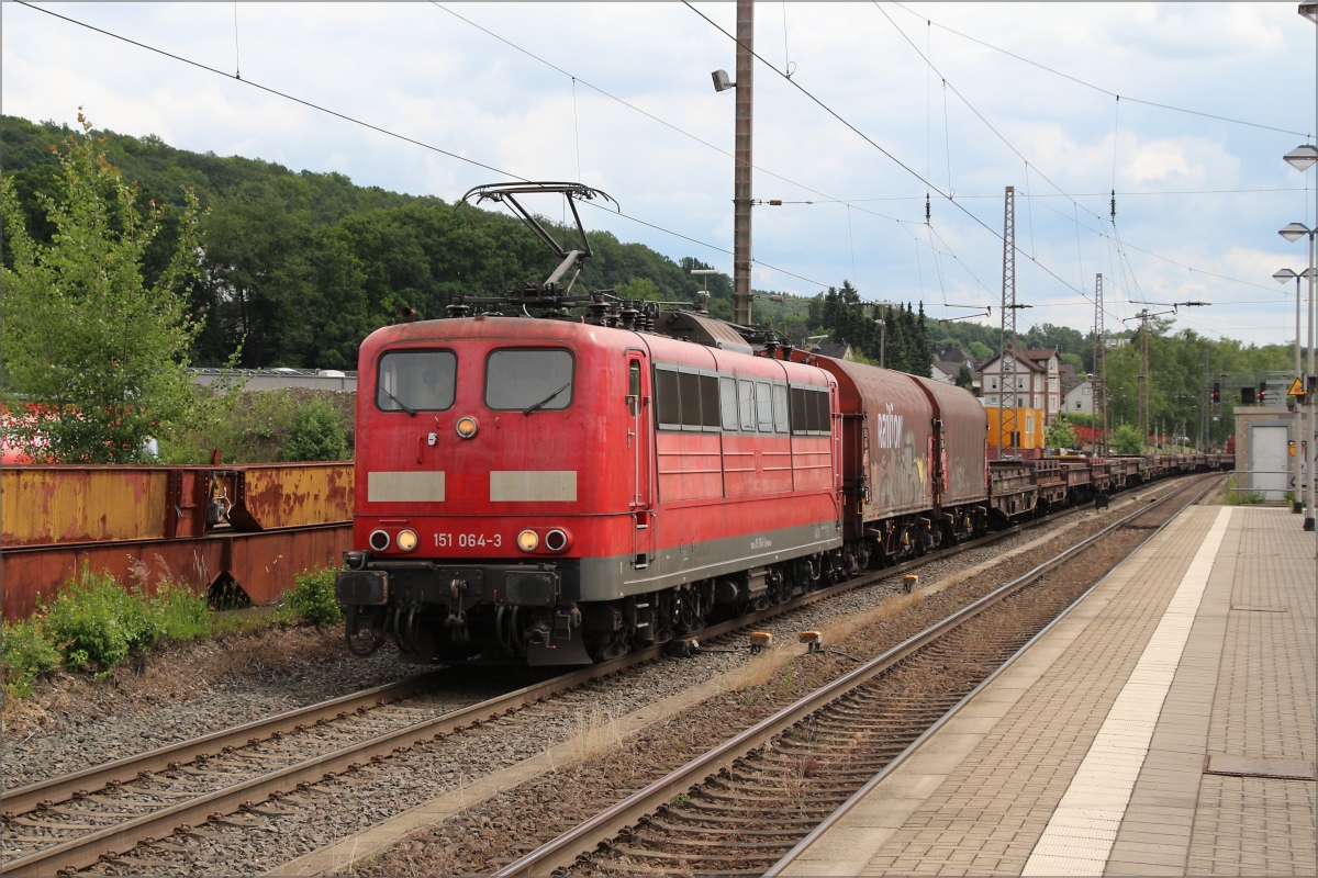
[[[596,333],[476,316],[366,340],[356,550],[336,582],[355,652],[391,636],[415,662],[594,659],[612,631],[592,625],[617,620],[577,606],[581,549],[622,569],[645,563],[637,533],[654,538],[637,525],[648,370]]]

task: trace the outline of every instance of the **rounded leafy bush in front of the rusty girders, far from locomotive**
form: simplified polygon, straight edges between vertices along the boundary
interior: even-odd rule
[[[113,667],[133,649],[148,649],[165,633],[140,590],[125,590],[108,573],[91,573],[59,590],[46,615],[50,640],[69,667],[96,662]]]

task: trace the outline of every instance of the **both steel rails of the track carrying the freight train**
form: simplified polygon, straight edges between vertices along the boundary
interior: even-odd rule
[[[1178,492],[1173,492],[1168,495],[1168,498],[1176,496],[1176,494]],[[1168,498],[1162,498],[1156,503],[1162,503]],[[1139,512],[1147,512],[1148,508],[1152,507],[1145,507]],[[1037,527],[1043,527],[1044,524],[1057,521],[1060,517],[1066,517],[1081,511],[1082,507],[1075,507],[1044,519],[1027,521],[1012,528],[999,530],[979,540],[956,544],[933,554],[913,558],[911,561],[894,565],[892,567],[874,571],[869,575],[855,577],[836,586],[820,588],[767,609],[730,619],[716,625],[709,625],[700,629],[697,634],[702,638],[720,637],[747,625],[754,625],[786,612],[799,609],[818,600],[824,600],[854,588],[874,584],[891,577],[902,575],[905,571],[919,569],[936,561],[954,557],[962,552],[992,545],[994,542],[1010,538]],[[564,692],[587,682],[652,661],[660,657],[666,645],[655,645],[634,650],[619,658],[590,665],[577,671],[563,674],[542,683],[481,702],[480,704],[473,704],[431,720],[424,720],[422,723],[405,727],[403,729],[369,738],[360,744],[307,760],[270,774],[250,778],[231,787],[204,794],[190,802],[162,808],[130,821],[107,827],[98,832],[71,839],[58,845],[51,845],[42,850],[0,864],[0,874],[50,874],[57,870],[67,871],[82,869],[96,862],[99,858],[105,856],[107,852],[123,850],[142,841],[150,844],[154,837],[167,833],[175,827],[187,825],[190,821],[199,821],[199,817],[210,817],[215,812],[229,813],[252,800],[262,800],[269,798],[272,794],[283,792],[285,787],[297,786],[298,783],[314,783],[320,779],[333,777],[345,769],[353,767],[361,760],[369,761],[376,757],[386,757],[395,750],[401,750],[409,738],[413,738],[415,744],[424,744],[424,737],[418,736],[430,736],[431,738],[442,737],[453,731],[460,731],[467,725],[480,724],[500,713],[518,710],[532,702]],[[409,681],[402,681],[401,683],[390,683],[373,690],[365,690],[362,692],[314,704],[307,708],[299,708],[298,711],[290,711],[265,720],[256,720],[254,723],[236,727],[233,729],[215,732],[212,735],[183,741],[167,748],[159,748],[149,753],[127,757],[103,766],[95,766],[84,771],[53,778],[51,781],[28,785],[13,790],[12,792],[3,792],[0,795],[5,799],[5,804],[17,802],[21,808],[20,813],[30,812],[41,807],[47,800],[67,800],[69,798],[72,798],[74,794],[80,794],[88,786],[104,788],[115,781],[124,782],[134,779],[140,775],[140,773],[153,770],[150,766],[158,767],[167,766],[169,762],[191,761],[199,754],[210,754],[215,750],[221,750],[224,746],[232,746],[232,742],[246,745],[250,742],[250,738],[260,737],[262,733],[265,735],[265,738],[269,738],[277,731],[295,731],[297,725],[306,725],[308,720],[315,723],[315,720],[320,717],[337,716],[340,712],[348,712],[349,704],[353,706],[352,710],[357,710],[357,707],[362,707],[365,704],[377,706],[381,700],[386,700],[387,703],[387,699],[384,699],[386,694],[391,695],[391,700],[397,702],[406,696],[399,694],[399,690],[410,688],[415,692],[424,683],[430,682],[438,673],[439,671],[420,674],[410,678]]]

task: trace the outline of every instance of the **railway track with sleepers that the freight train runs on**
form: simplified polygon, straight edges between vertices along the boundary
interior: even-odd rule
[[[701,640],[717,642],[718,637],[772,616],[992,545],[1065,515],[952,546],[709,627],[701,632]],[[278,800],[326,778],[351,774],[368,762],[430,745],[651,661],[662,652],[662,646],[638,650],[439,716],[434,715],[434,707],[409,707],[411,699],[436,684],[442,671],[434,671],[7,791],[0,871],[74,871],[99,860],[115,860],[134,846],[150,846],[170,836],[186,837],[194,825],[254,810],[262,802]]]

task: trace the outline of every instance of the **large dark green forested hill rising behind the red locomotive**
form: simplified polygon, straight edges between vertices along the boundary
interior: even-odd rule
[[[37,240],[51,232],[38,197],[57,191],[51,146],[70,133],[3,120],[4,172]],[[224,362],[245,338],[245,367],[352,369],[361,340],[391,323],[399,307],[442,317],[456,292],[489,295],[543,280],[558,262],[506,213],[360,187],[341,174],[190,153],[154,137],[94,133],[104,138],[107,161],[137,182],[140,203],[178,203],[179,187],[187,186],[207,211],[204,271],[192,290],[192,311],[206,328],[194,365]],[[149,254],[148,283],[163,267],[175,240],[170,232]],[[708,267],[693,258],[675,262],[609,233],[593,233],[590,245],[596,255],[580,283],[592,288],[693,300],[702,280],[689,270]],[[712,309],[730,317],[729,279],[710,276],[709,291]]]

